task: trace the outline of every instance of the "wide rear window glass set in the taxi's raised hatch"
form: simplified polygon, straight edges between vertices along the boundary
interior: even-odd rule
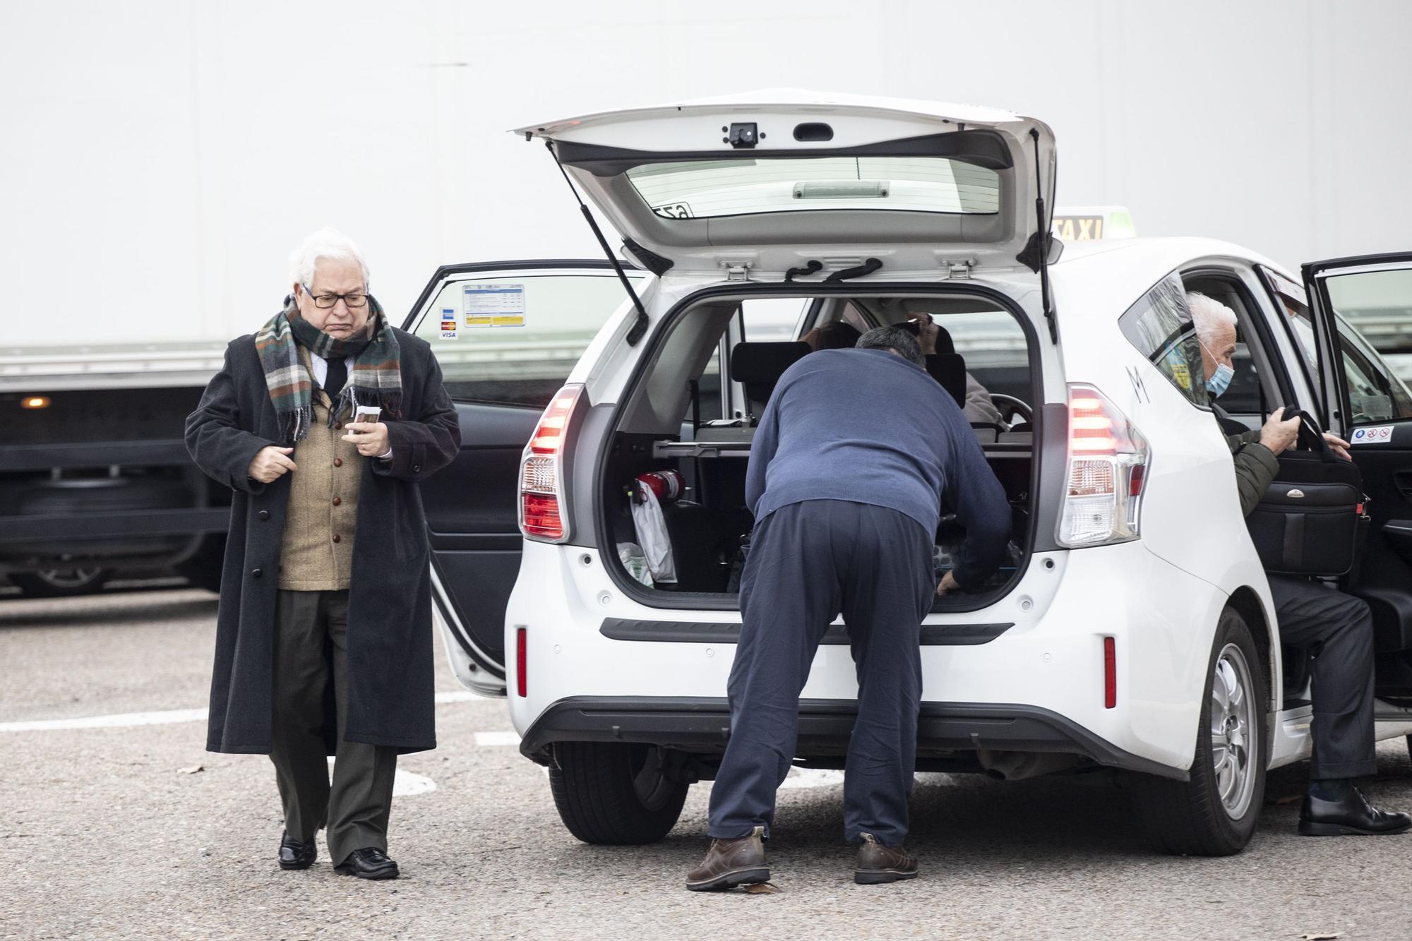
[[[810,209],[1000,211],[997,171],[945,157],[696,160],[642,164],[627,178],[666,219]]]

